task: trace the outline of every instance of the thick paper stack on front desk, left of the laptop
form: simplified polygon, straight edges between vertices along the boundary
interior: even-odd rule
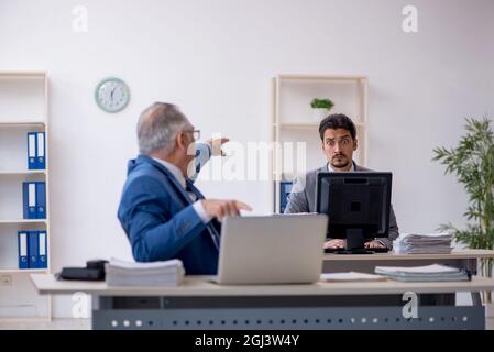
[[[177,286],[185,275],[179,260],[130,263],[111,258],[105,270],[108,286]]]

